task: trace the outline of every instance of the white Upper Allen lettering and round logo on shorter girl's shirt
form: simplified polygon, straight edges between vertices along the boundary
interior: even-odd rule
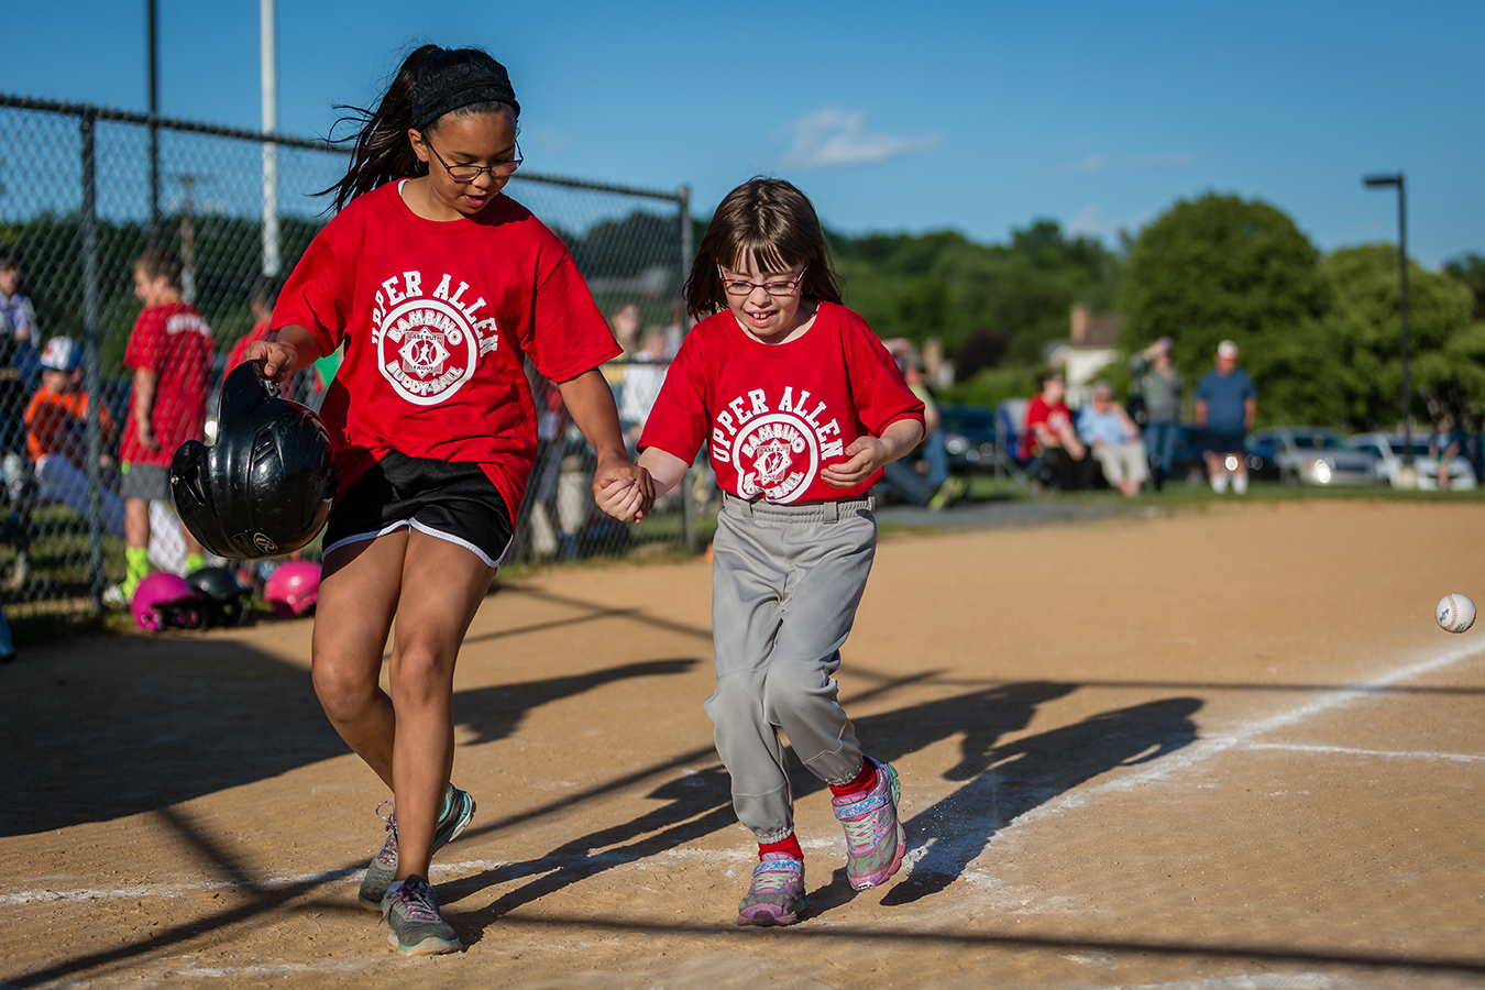
[[[841,424],[824,413],[826,404],[811,404],[803,389],[796,395],[786,387],[777,402],[753,389],[717,413],[711,456],[732,465],[744,499],[793,502],[809,490],[824,459],[845,453]]]

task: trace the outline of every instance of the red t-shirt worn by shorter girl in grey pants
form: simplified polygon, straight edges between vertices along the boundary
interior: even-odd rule
[[[866,493],[820,476],[864,433],[900,419],[922,422],[897,362],[857,313],[820,303],[803,337],[765,344],[732,312],[696,324],[670,365],[640,447],[691,462],[711,447],[717,484],[744,499],[826,502]]]

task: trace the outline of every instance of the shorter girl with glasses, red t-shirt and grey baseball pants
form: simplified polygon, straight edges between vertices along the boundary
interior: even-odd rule
[[[805,864],[780,730],[830,787],[846,879],[873,888],[903,862],[897,772],[863,755],[832,678],[876,551],[870,487],[924,435],[924,405],[841,304],[815,209],[756,178],[717,208],[686,282],[686,337],[640,439],[639,482],[600,482],[636,519],[704,444],[723,490],[713,540],[717,687],[705,702],[732,806],[759,864],[738,925],[793,925]]]

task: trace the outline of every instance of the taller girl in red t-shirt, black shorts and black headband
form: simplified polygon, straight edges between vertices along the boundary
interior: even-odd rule
[[[345,349],[322,405],[340,491],[324,534],[313,683],[392,791],[359,899],[411,954],[460,948],[426,877],[475,807],[448,781],[453,672],[536,454],[526,358],[558,383],[597,478],[650,488],[598,373],[619,355],[607,322],[561,240],[502,193],[520,165],[518,114],[505,67],[484,52],[413,52],[377,110],[361,111],[350,168],[327,190],[339,214],[284,285],[275,335],[247,353],[284,380]],[[394,617],[388,695],[379,677]]]

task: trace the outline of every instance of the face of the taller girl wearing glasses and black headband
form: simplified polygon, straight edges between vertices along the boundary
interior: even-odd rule
[[[428,163],[428,175],[408,181],[404,200],[425,220],[474,217],[500,194],[515,171],[483,171],[469,181],[448,174],[450,166],[509,166],[517,160],[515,119],[508,113],[444,114],[428,134],[408,131],[407,138],[413,153]]]

